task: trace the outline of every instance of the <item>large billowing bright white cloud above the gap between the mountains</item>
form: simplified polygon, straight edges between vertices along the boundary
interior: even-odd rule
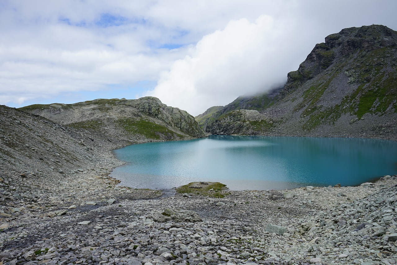
[[[197,115],[212,105],[230,103],[238,95],[282,84],[288,70],[297,66],[291,56],[294,51],[286,49],[293,30],[289,21],[265,15],[254,22],[230,21],[175,61],[147,95]]]

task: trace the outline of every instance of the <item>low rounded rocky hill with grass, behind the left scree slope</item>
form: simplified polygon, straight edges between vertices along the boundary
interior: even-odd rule
[[[156,97],[30,105],[21,110],[64,126],[89,130],[100,137],[129,142],[179,140],[206,135],[192,115],[169,107]]]

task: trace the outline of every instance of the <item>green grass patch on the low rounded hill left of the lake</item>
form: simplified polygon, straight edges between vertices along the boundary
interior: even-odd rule
[[[176,136],[184,138],[182,134],[175,133],[167,127],[154,123],[148,119],[119,119],[117,123],[123,127],[125,131],[133,134],[141,134],[149,139],[160,140],[160,136],[164,135],[167,139],[173,139]]]

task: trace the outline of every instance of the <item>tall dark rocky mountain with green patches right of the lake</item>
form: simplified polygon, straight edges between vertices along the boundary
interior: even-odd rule
[[[396,58],[396,31],[383,25],[342,29],[316,44],[283,88],[237,98],[210,115],[205,129],[396,139]]]

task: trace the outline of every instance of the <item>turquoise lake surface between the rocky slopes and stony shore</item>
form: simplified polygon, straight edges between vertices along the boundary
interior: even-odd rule
[[[397,173],[397,142],[362,138],[218,136],[133,144],[111,176],[134,188],[219,181],[232,190],[360,185]]]

